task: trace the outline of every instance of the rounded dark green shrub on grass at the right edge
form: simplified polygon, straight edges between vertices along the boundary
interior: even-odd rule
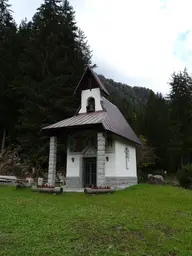
[[[192,188],[192,165],[183,166],[178,171],[177,178],[183,188]]]

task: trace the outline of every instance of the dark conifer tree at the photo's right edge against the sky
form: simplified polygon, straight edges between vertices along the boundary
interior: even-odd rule
[[[176,171],[192,149],[192,78],[188,71],[174,73],[170,86],[169,151]]]

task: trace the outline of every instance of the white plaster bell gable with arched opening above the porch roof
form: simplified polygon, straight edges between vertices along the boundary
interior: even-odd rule
[[[87,100],[89,97],[93,97],[95,99],[95,111],[103,110],[101,107],[101,92],[99,88],[95,88],[92,90],[83,90],[81,92],[81,109],[79,110],[79,114],[87,112]]]

